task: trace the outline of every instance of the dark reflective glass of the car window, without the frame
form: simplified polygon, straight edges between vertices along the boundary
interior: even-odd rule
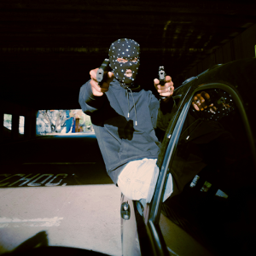
[[[174,191],[162,205],[160,229],[177,254],[191,255],[181,251],[186,243],[196,255],[206,255],[205,248],[213,255],[246,253],[256,240],[255,171],[247,134],[232,96],[220,89],[203,93],[217,108],[198,112],[191,106],[187,113],[170,166]],[[173,239],[168,244],[173,229],[183,245]]]

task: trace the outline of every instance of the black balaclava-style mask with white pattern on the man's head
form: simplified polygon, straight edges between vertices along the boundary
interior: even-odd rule
[[[132,84],[140,66],[140,45],[132,39],[118,39],[110,45],[108,55],[114,77],[123,84]],[[124,58],[127,61],[119,62],[118,58]],[[137,61],[132,61],[134,58],[137,58]],[[127,69],[131,69],[132,76],[130,78],[125,76]]]

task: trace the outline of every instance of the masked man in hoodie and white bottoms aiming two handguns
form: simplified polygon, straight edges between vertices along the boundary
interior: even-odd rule
[[[160,143],[154,129],[168,124],[175,102],[173,83],[166,76],[166,84],[154,79],[154,87],[164,96],[158,101],[150,90],[136,84],[140,65],[140,46],[132,39],[119,39],[109,48],[112,72],[99,86],[97,68],[90,71],[90,81],[80,89],[79,103],[89,114],[96,132],[108,175],[122,193],[131,200],[151,201],[159,175],[156,160]],[[163,112],[164,110],[164,112]],[[164,201],[172,194],[169,175]]]

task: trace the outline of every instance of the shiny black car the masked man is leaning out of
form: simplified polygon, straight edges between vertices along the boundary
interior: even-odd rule
[[[153,200],[141,216],[121,198],[124,256],[255,255],[255,92],[255,58],[216,65],[174,91]],[[198,94],[215,108],[196,111]],[[169,172],[173,193],[162,202]]]

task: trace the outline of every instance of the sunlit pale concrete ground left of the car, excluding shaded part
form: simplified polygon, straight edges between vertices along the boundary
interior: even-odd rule
[[[119,200],[113,184],[1,189],[0,253],[45,231],[49,246],[119,256]]]

